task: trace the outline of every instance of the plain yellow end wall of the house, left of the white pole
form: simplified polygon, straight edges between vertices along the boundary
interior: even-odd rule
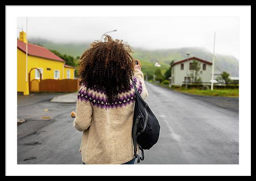
[[[26,54],[17,49],[17,92],[24,92],[26,81]]]

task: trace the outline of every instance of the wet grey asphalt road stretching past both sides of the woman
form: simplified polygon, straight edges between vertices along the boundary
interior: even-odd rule
[[[161,129],[140,164],[239,164],[238,99],[185,95],[148,82],[146,87],[145,101]],[[17,127],[17,163],[81,164],[81,132],[69,116],[76,104],[50,103],[48,97],[25,102],[19,107],[18,98],[18,117],[28,121]],[[29,157],[35,159],[24,161]]]

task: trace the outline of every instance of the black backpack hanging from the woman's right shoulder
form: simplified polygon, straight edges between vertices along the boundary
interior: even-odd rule
[[[144,160],[143,149],[150,149],[157,143],[160,133],[160,125],[154,113],[149,108],[148,104],[140,96],[137,87],[132,80],[135,91],[135,106],[132,126],[132,138],[134,143],[134,156],[140,160]],[[142,157],[137,155],[137,144],[142,152]]]

